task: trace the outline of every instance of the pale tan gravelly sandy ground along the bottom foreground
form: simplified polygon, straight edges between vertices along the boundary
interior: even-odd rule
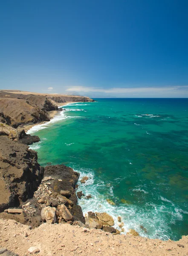
[[[183,236],[179,241],[161,241],[139,236],[114,236],[102,230],[88,230],[69,224],[42,224],[30,230],[29,226],[16,221],[0,219],[1,247],[20,256],[31,255],[30,247],[40,250],[38,256],[187,256],[188,237]]]

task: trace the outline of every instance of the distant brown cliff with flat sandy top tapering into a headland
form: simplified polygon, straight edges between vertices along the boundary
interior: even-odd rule
[[[94,101],[88,97],[0,90],[0,122],[17,128],[28,123],[49,121],[49,111],[61,111],[62,102]]]

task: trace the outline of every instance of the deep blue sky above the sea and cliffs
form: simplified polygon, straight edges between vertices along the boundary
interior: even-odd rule
[[[188,97],[188,0],[0,1],[0,89]]]

